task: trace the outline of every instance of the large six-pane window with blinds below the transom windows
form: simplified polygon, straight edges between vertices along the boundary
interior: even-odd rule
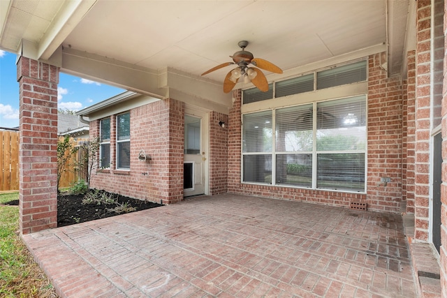
[[[242,181],[365,191],[366,117],[365,96],[244,114]]]

